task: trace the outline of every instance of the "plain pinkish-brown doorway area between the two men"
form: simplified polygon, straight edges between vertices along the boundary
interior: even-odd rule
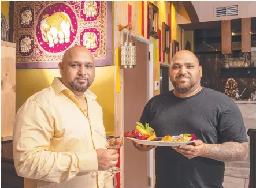
[[[125,39],[125,36],[124,36]],[[137,65],[124,69],[124,131],[132,131],[150,99],[149,44],[132,37],[137,48]],[[126,139],[124,148],[123,187],[147,188],[149,185],[149,152],[136,150]]]

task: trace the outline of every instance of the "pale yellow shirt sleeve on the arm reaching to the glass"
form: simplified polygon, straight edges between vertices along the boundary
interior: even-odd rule
[[[13,158],[19,176],[50,182],[64,182],[79,172],[97,172],[93,151],[52,152],[54,118],[37,101],[28,100],[18,110],[13,125]]]

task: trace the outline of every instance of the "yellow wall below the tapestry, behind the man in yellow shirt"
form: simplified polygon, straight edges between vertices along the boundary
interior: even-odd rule
[[[49,87],[58,69],[16,70],[16,111],[32,94]],[[96,67],[95,80],[90,87],[102,106],[106,132],[114,132],[114,66]]]

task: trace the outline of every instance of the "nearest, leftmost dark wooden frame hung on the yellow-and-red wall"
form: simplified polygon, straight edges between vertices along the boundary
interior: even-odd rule
[[[158,39],[158,7],[149,2],[149,35]]]

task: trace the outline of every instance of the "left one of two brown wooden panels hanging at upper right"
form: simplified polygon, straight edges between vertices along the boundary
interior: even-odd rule
[[[231,53],[231,20],[221,21],[221,51],[222,54]]]

